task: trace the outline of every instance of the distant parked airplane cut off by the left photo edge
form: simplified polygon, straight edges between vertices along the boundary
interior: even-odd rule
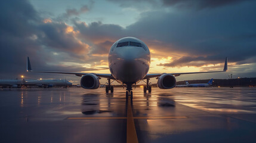
[[[24,82],[24,79],[1,79],[0,86],[2,86],[2,88],[21,88]]]

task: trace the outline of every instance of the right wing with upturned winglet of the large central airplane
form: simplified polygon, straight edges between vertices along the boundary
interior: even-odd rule
[[[196,74],[196,73],[218,73],[218,72],[225,72],[227,71],[227,58],[225,60],[225,64],[224,64],[224,69],[221,70],[221,71],[202,71],[202,72],[189,72],[189,73],[168,73],[168,74],[172,74],[174,76],[180,76],[181,74]],[[150,78],[153,78],[153,77],[159,77],[161,76],[162,74],[165,74],[165,73],[161,73],[161,74],[147,74],[144,79],[150,79]]]

